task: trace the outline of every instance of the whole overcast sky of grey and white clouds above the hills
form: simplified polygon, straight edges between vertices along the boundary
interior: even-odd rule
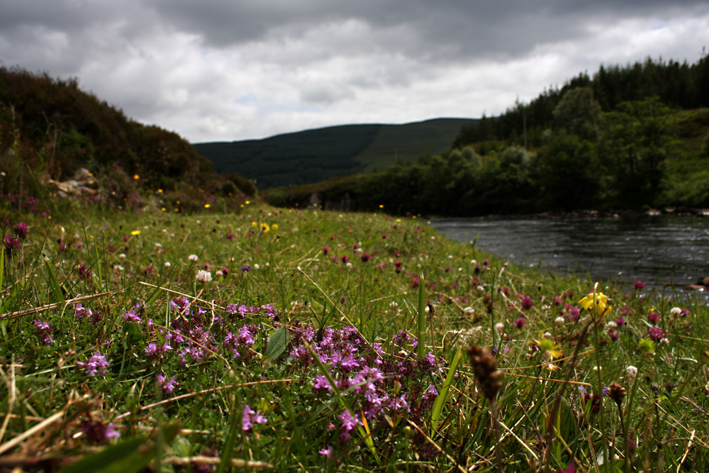
[[[705,46],[707,0],[0,0],[2,65],[191,142],[491,116]]]

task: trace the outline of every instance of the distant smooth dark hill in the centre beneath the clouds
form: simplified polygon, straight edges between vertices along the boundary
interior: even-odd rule
[[[450,148],[464,124],[474,118],[384,125],[341,125],[286,133],[262,140],[193,143],[219,174],[239,172],[259,189],[320,182],[357,172],[383,171],[398,160]]]

